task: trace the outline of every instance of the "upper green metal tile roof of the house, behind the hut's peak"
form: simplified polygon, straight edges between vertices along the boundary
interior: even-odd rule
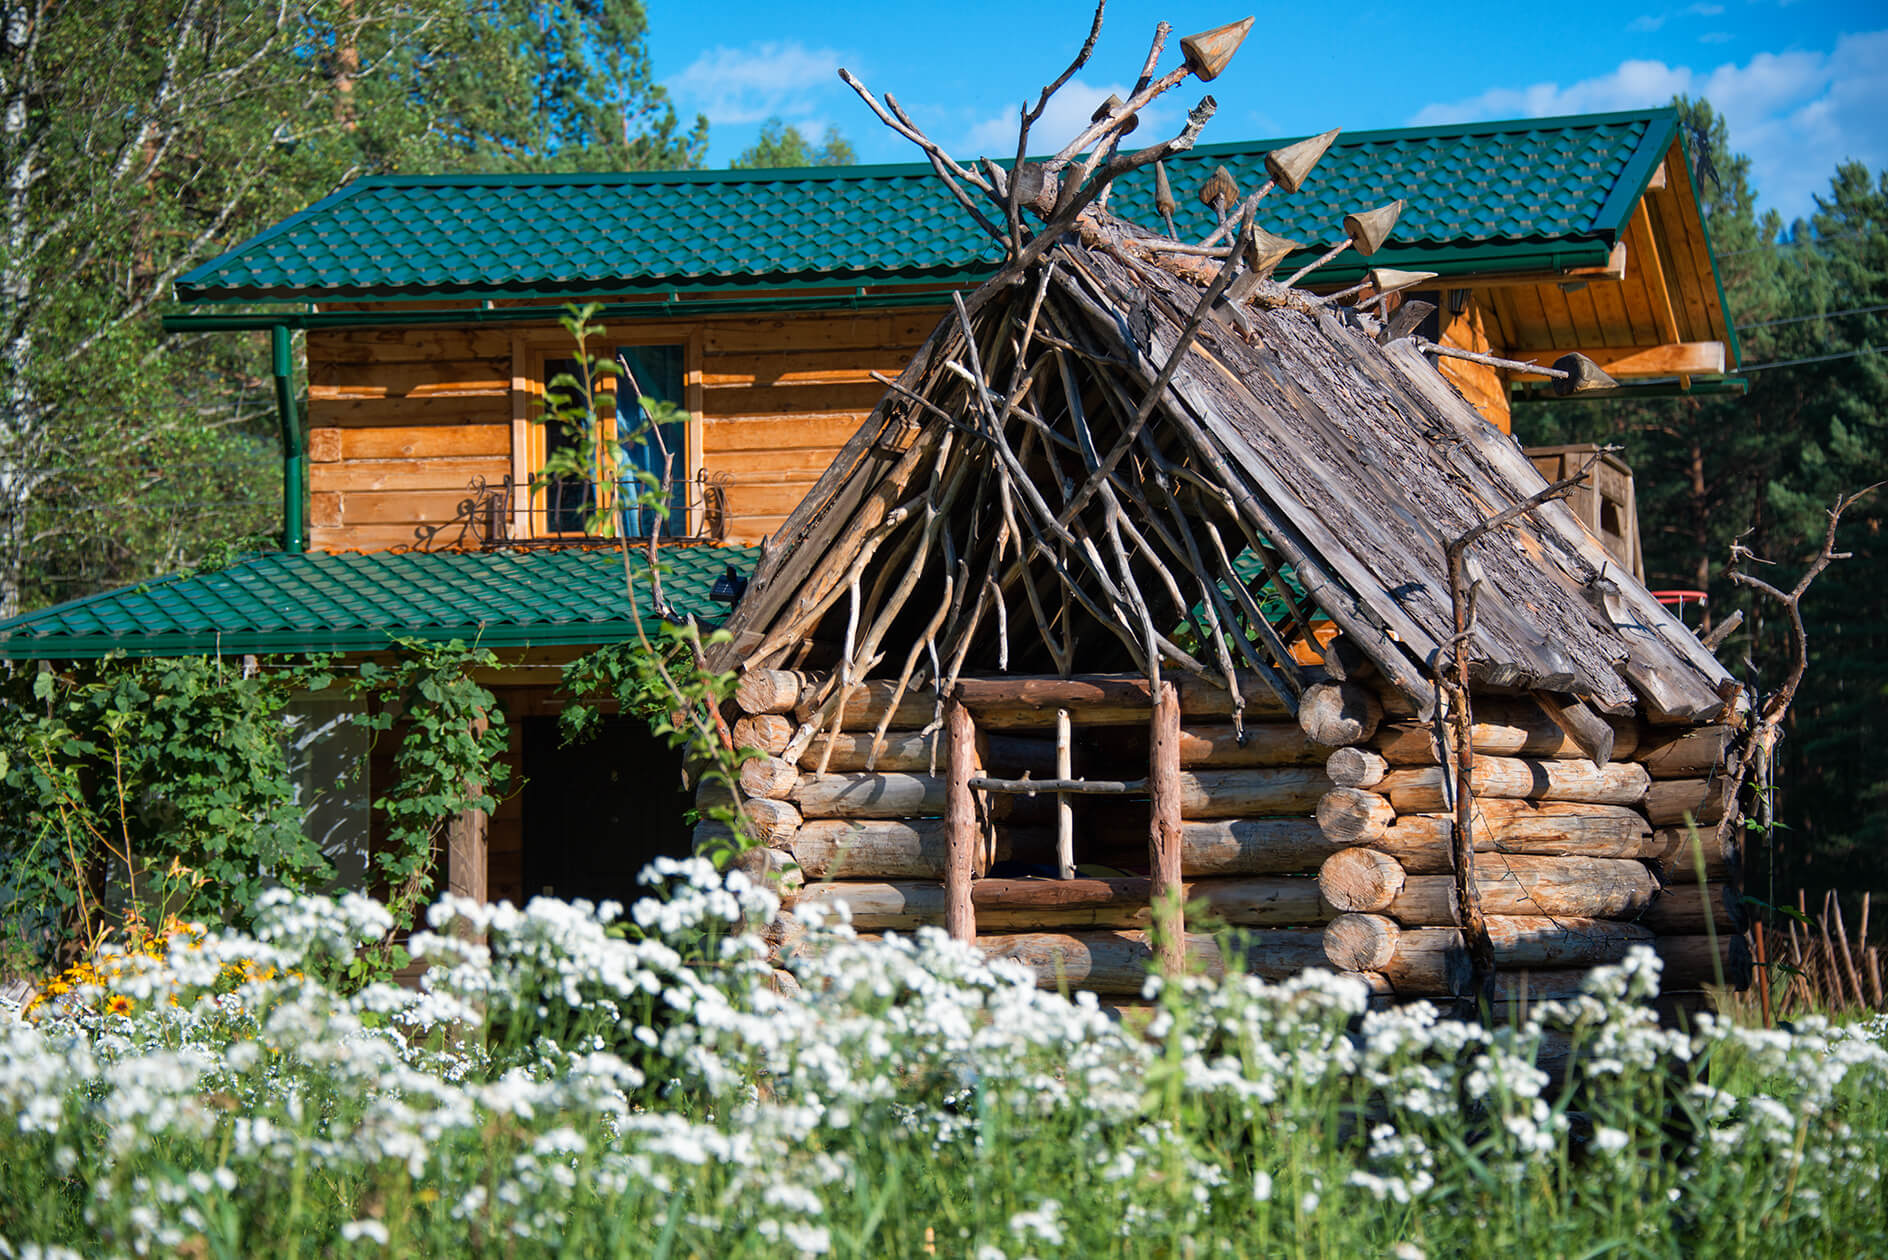
[[[1346,212],[1403,196],[1373,263],[1463,274],[1605,261],[1675,134],[1671,110],[1344,132],[1305,191],[1267,198],[1261,221],[1325,242]],[[1193,191],[1214,166],[1252,189],[1282,144],[1199,145],[1169,162],[1182,234],[1212,227]],[[1152,172],[1121,181],[1112,208],[1157,223]],[[872,285],[967,281],[997,261],[921,164],[374,176],[176,291],[206,302]]]

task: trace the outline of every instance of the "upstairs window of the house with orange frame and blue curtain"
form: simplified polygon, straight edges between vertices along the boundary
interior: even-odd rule
[[[553,455],[582,448],[582,434],[559,423],[532,423],[529,434],[532,536],[582,536],[598,504],[602,510],[615,504],[619,529],[627,536],[646,538],[661,518],[638,506],[646,489],[644,482],[636,478],[638,472],[651,474],[668,487],[670,510],[666,519],[661,519],[663,533],[672,536],[687,533],[687,425],[680,421],[655,425],[638,400],[648,397],[678,408],[685,406],[687,351],[683,346],[617,346],[614,355],[621,376],[598,376],[595,414],[604,429],[598,440],[623,444],[619,467],[625,476],[619,485],[598,485],[600,461],[589,476],[546,472]],[[538,382],[544,385],[544,395],[531,408],[532,421],[548,410],[559,393],[570,393],[568,385],[551,385],[565,374],[578,376],[576,359],[557,355],[540,359]]]

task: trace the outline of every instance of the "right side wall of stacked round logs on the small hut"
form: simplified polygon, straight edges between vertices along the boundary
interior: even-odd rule
[[[1578,990],[1648,945],[1661,986],[1748,980],[1722,725],[1612,718],[1607,763],[1526,697],[1476,697],[1475,882],[1501,992]],[[1331,963],[1397,997],[1459,997],[1471,963],[1456,912],[1452,773],[1433,725],[1386,722],[1333,752],[1318,803]],[[1454,754],[1450,754],[1454,758]]]

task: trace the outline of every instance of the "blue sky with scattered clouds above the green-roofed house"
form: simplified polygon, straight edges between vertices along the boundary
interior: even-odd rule
[[[836,66],[874,93],[891,91],[952,153],[1008,157],[1018,104],[1061,72],[1093,11],[1014,0],[648,8],[655,74],[683,115],[708,115],[712,164],[751,144],[770,115],[808,134],[838,125],[865,162],[918,159],[838,81]],[[1074,134],[1101,98],[1133,81],[1161,19],[1174,26],[1163,60],[1171,66],[1182,34],[1246,13],[1116,0],[1093,60],[1044,121],[1044,140]],[[1888,168],[1888,2],[1293,6],[1261,15],[1208,91],[1220,111],[1203,140],[1220,142],[1629,110],[1701,94],[1752,157],[1763,204],[1788,219],[1812,210],[1839,161]],[[1199,94],[1197,83],[1169,93],[1165,115],[1148,121],[1174,130]]]

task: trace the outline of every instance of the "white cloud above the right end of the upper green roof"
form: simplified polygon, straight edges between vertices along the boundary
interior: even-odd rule
[[[1703,96],[1724,115],[1731,147],[1750,155],[1760,198],[1784,217],[1809,213],[1843,161],[1888,166],[1888,30],[1841,36],[1826,53],[1758,53],[1709,72],[1626,60],[1576,83],[1497,87],[1433,104],[1410,123],[1637,110],[1677,94]]]

